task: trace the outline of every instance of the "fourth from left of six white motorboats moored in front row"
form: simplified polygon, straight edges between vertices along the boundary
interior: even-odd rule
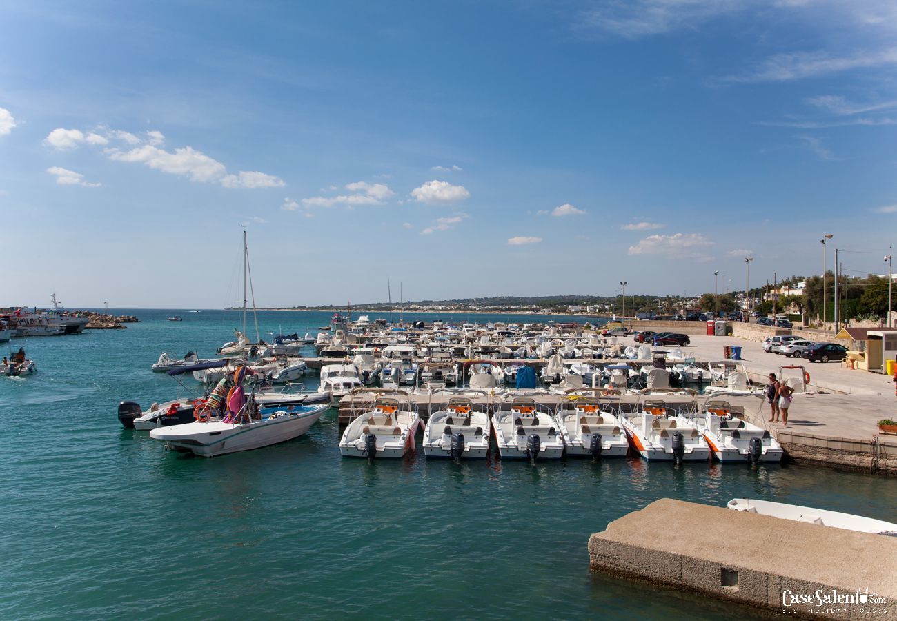
[[[598,389],[565,392],[554,420],[561,430],[567,455],[592,459],[626,457],[629,440],[623,431],[623,423],[600,399],[600,395],[614,392]]]

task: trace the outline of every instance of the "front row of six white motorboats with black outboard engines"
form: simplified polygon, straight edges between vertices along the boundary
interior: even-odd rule
[[[778,462],[783,454],[771,433],[747,422],[727,401],[719,399],[709,398],[700,406],[693,400],[687,407],[674,407],[651,395],[640,399],[630,413],[623,413],[612,407],[615,399],[607,398],[618,397],[618,393],[608,390],[569,390],[554,410],[531,397],[509,396],[487,406],[473,398],[476,391],[447,391],[455,396],[434,407],[423,424],[404,391],[357,392],[359,397],[368,393],[375,398],[358,408],[339,448],[344,457],[369,461],[401,458],[414,450],[419,427],[423,428],[422,445],[428,458],[456,461],[485,458],[493,436],[501,459],[533,462],[563,455],[625,457],[632,450],[648,460],[681,463],[712,457],[757,464]]]

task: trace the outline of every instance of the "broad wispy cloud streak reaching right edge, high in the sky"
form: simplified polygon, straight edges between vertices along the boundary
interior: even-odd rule
[[[724,78],[724,82],[788,82],[817,75],[839,74],[851,69],[888,65],[897,65],[897,48],[859,52],[842,57],[832,57],[825,52],[792,52],[771,56],[752,72],[729,75]]]

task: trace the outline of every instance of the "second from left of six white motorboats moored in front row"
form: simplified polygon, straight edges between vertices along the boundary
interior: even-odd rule
[[[431,412],[423,430],[423,452],[427,457],[454,459],[455,463],[485,459],[490,430],[488,407],[470,398],[449,398],[447,406]]]

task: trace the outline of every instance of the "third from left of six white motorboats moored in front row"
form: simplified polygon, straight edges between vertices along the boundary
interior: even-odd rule
[[[535,399],[513,397],[492,414],[501,459],[561,459],[563,439],[551,411]]]

